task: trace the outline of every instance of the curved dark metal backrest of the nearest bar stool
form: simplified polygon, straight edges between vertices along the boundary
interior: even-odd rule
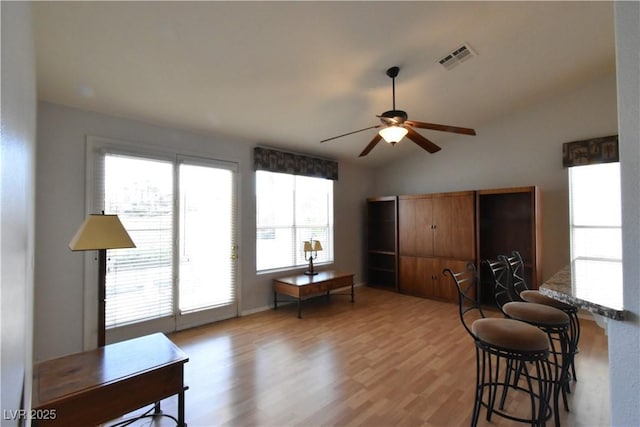
[[[471,323],[474,320],[484,317],[482,307],[478,301],[478,270],[476,266],[469,262],[467,268],[460,272],[453,272],[449,268],[442,270],[442,274],[449,275],[451,281],[458,291],[458,311],[460,313],[460,321],[462,326],[467,330],[469,335],[475,339],[475,335],[471,332]]]

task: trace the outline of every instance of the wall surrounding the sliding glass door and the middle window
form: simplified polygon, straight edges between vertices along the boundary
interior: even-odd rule
[[[255,142],[223,135],[197,135],[40,103],[35,270],[36,360],[80,351],[90,347],[93,342],[85,330],[95,330],[96,316],[91,314],[94,306],[85,304],[83,299],[84,257],[67,248],[85,216],[87,135],[237,162],[240,169],[240,312],[247,314],[270,307],[271,279],[283,273],[257,275],[255,272]],[[362,278],[362,200],[370,192],[372,173],[345,162],[340,162],[339,167],[340,179],[334,187],[334,267],[353,271],[356,281],[359,281]],[[97,273],[92,277],[97,277]]]

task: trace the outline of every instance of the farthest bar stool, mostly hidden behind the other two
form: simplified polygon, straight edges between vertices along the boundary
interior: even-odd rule
[[[511,273],[512,291],[519,297],[520,301],[533,302],[536,304],[548,305],[564,311],[569,316],[569,351],[571,359],[569,367],[571,369],[571,377],[574,381],[578,381],[576,375],[575,357],[579,351],[578,342],[580,341],[580,319],[578,318],[578,307],[558,301],[540,293],[540,291],[532,290],[525,280],[524,261],[520,252],[513,251],[511,256],[500,255],[506,262]]]

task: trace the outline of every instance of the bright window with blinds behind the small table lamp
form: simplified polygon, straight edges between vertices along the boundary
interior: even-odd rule
[[[333,181],[256,171],[256,269],[307,264],[302,242],[319,240],[315,263],[333,261]]]

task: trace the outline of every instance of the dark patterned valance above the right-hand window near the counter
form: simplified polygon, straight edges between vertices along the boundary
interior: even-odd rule
[[[619,161],[618,135],[562,144],[562,166],[565,168]]]

